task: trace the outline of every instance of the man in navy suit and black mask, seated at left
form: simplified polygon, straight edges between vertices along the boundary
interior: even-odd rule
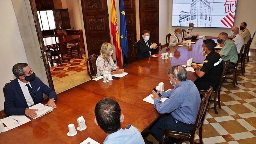
[[[27,115],[34,118],[38,109],[27,108],[44,100],[43,93],[49,97],[45,106],[56,108],[54,101],[56,101],[57,96],[55,91],[36,77],[27,63],[15,64],[13,74],[16,79],[5,88],[4,113],[7,115]]]

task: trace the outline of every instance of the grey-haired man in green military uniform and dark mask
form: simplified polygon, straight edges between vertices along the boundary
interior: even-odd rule
[[[232,40],[228,39],[228,35],[225,32],[222,32],[218,35],[217,42],[219,44],[223,44],[222,49],[216,51],[221,56],[221,59],[223,61],[222,62],[223,67],[225,66],[225,63],[227,62],[227,60],[230,58],[230,64],[228,69],[234,69],[238,60],[237,46]]]

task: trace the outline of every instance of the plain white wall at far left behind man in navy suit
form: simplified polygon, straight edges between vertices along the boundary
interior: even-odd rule
[[[11,79],[15,79],[12,67],[16,63],[28,63],[22,38],[19,32],[18,23],[13,9],[12,1],[0,1],[0,86],[3,86]],[[3,110],[4,95],[0,92],[0,111]]]

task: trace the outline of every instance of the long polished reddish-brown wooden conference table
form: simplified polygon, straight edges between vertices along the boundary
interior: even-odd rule
[[[206,37],[207,38],[207,37]],[[215,39],[215,37],[208,37]],[[124,114],[124,129],[128,124],[135,126],[141,133],[150,127],[161,116],[153,105],[142,99],[150,95],[152,88],[158,83],[164,83],[164,90],[173,89],[167,77],[167,70],[173,65],[186,65],[189,58],[193,62],[203,63],[205,56],[202,53],[202,39],[192,40],[196,42],[190,47],[173,46],[159,51],[172,52],[173,57],[162,60],[156,57],[147,57],[135,61],[123,67],[128,75],[119,80],[103,83],[87,81],[57,95],[57,108],[37,119],[21,125],[15,129],[0,134],[0,143],[81,143],[86,138],[93,138],[103,143],[106,135],[99,126],[94,123],[94,108],[96,103],[105,97],[116,99]],[[187,71],[188,79],[196,81],[195,72]],[[47,100],[41,102],[46,104]],[[77,130],[77,135],[67,136],[68,124],[74,123],[77,127],[77,118],[83,116],[87,129]]]

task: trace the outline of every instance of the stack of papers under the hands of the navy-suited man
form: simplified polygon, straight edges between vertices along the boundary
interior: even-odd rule
[[[47,113],[53,111],[54,109],[50,106],[44,106],[43,104],[39,103],[39,104],[36,104],[34,106],[31,106],[29,107],[29,109],[38,109],[38,111],[35,111],[36,112],[36,117],[33,118],[33,119],[36,119],[36,118],[39,118],[43,115],[46,115]]]

